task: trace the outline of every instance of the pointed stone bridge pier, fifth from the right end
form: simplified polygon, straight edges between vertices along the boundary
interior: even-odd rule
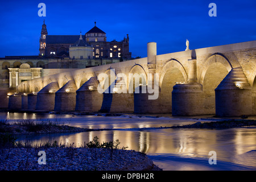
[[[101,109],[103,95],[98,92],[97,77],[90,77],[76,90],[76,111],[97,112]]]

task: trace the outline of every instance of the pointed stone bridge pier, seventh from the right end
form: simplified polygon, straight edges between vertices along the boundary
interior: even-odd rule
[[[53,111],[55,105],[55,92],[59,90],[57,82],[51,82],[38,92],[36,110]]]

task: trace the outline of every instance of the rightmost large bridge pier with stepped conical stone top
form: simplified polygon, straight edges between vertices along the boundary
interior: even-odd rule
[[[253,114],[251,86],[241,67],[233,68],[217,86],[215,101],[218,117]]]

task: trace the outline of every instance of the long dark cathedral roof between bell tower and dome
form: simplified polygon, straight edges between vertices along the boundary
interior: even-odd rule
[[[79,37],[80,35],[47,35],[46,44],[73,44]],[[82,39],[85,39],[84,35],[82,35]]]

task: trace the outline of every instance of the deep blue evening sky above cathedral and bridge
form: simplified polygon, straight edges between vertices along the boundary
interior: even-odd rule
[[[38,4],[46,4],[46,17]],[[209,3],[217,17],[210,17]],[[147,42],[157,43],[158,55],[256,40],[255,0],[181,1],[1,1],[0,57],[38,55],[39,38],[46,19],[48,35],[79,35],[97,27],[107,40],[130,37],[133,57],[147,56]]]

